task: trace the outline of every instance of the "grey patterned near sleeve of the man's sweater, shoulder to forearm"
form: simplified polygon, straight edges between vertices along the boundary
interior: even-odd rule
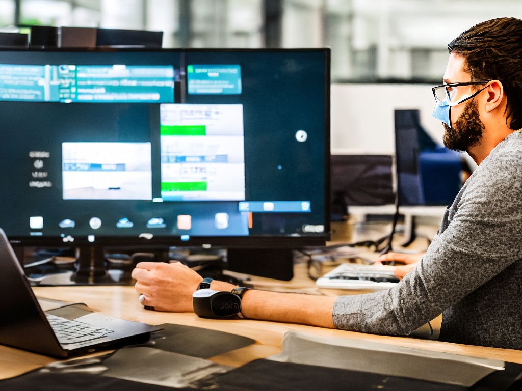
[[[519,153],[503,149],[484,160],[417,267],[389,290],[339,297],[334,325],[408,335],[522,258]]]

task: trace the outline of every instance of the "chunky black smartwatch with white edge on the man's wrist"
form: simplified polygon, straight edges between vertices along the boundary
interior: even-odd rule
[[[222,319],[239,314],[241,299],[232,292],[198,289],[192,295],[194,312],[200,317]]]

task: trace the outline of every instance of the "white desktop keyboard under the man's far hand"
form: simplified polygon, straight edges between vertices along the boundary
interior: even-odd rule
[[[319,288],[333,289],[389,289],[399,282],[393,274],[393,267],[341,263],[331,272],[319,277],[315,284]]]

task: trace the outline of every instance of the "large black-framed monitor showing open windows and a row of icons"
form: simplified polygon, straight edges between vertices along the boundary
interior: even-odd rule
[[[78,249],[75,283],[110,283],[113,247],[223,247],[235,270],[288,279],[288,256],[266,251],[329,238],[329,61],[1,51],[0,227],[20,247]]]

